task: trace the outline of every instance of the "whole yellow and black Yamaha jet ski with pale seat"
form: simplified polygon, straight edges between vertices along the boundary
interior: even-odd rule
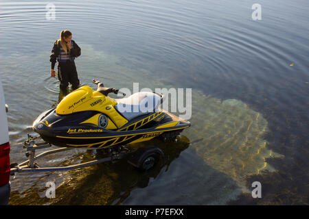
[[[82,86],[65,96],[57,107],[43,112],[33,129],[50,144],[62,147],[107,148],[143,142],[161,136],[174,140],[190,122],[159,109],[163,94],[137,92],[122,99],[110,93],[126,94],[98,85],[95,91]],[[147,108],[147,110],[145,110]]]

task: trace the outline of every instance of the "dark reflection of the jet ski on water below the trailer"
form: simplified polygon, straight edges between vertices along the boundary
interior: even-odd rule
[[[58,205],[111,205],[122,203],[132,190],[146,188],[150,181],[155,180],[168,166],[179,157],[181,152],[189,146],[190,142],[185,136],[180,136],[177,142],[164,144],[160,140],[141,142],[134,145],[134,149],[141,146],[155,145],[164,153],[164,159],[154,168],[141,172],[129,165],[126,159],[116,164],[100,164],[95,166],[91,173],[77,184],[74,179],[74,189],[68,189],[70,181],[58,188],[61,198],[54,204]],[[98,158],[100,155],[97,156]],[[96,157],[96,158],[97,158]],[[166,171],[166,170],[165,170]],[[75,177],[74,177],[75,178]],[[70,187],[69,187],[70,188]],[[67,191],[67,192],[66,192]]]

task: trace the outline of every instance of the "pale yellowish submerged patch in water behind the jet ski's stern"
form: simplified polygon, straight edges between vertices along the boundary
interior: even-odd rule
[[[192,139],[199,156],[211,167],[224,172],[244,187],[247,177],[273,171],[268,157],[282,157],[267,148],[268,131],[262,114],[236,99],[220,101],[196,94],[192,105]]]

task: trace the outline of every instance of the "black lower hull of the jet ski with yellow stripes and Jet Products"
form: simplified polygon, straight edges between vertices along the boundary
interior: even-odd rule
[[[173,120],[166,112],[154,112],[130,121],[122,130],[113,130],[107,129],[108,125],[98,126],[101,115],[93,111],[58,115],[51,109],[38,117],[33,128],[43,140],[56,146],[106,148],[143,142],[168,131],[180,132],[190,127],[189,122]]]

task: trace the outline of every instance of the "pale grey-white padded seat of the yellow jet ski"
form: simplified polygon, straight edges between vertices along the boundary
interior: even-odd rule
[[[153,92],[137,92],[122,99],[115,99],[116,110],[127,120],[155,112],[161,104],[161,96]]]

